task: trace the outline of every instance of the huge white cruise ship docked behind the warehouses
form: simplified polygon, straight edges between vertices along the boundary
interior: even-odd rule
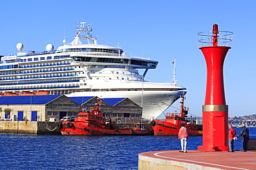
[[[120,47],[100,45],[91,31],[91,25],[80,22],[74,40],[66,43],[64,39],[57,50],[48,44],[44,52],[23,51],[24,45],[17,43],[16,55],[0,56],[1,96],[41,92],[129,98],[143,107],[144,118],[152,119],[185,92],[176,81],[145,81],[147,71],[156,69],[158,61],[127,56]]]

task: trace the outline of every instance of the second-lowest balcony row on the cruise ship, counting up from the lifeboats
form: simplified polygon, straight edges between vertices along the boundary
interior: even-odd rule
[[[79,82],[79,78],[63,78],[63,79],[53,79],[53,80],[42,79],[37,81],[9,81],[9,82],[0,82],[0,85],[27,85],[27,84],[42,84],[42,83],[68,83],[68,82]]]

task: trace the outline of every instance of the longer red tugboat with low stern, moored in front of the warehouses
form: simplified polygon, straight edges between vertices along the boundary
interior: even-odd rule
[[[117,129],[116,124],[109,117],[104,117],[104,113],[100,111],[100,102],[93,106],[88,112],[83,110],[77,114],[73,120],[65,118],[58,128],[64,136],[103,136],[103,135],[147,135],[147,129],[137,127],[125,127]]]

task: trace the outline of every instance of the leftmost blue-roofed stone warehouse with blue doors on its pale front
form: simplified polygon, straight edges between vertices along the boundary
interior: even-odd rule
[[[65,95],[0,96],[0,120],[49,121],[77,115],[80,105]]]

